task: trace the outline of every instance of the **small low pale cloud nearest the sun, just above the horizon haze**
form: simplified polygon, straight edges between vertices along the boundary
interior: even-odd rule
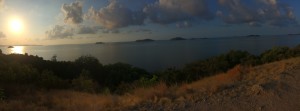
[[[46,37],[48,39],[66,39],[72,38],[74,35],[74,29],[66,28],[65,26],[55,25],[50,30],[46,31]]]

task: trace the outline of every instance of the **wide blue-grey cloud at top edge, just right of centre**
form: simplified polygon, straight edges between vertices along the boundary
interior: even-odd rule
[[[192,19],[213,19],[205,0],[159,0],[144,8],[150,21],[172,24]]]

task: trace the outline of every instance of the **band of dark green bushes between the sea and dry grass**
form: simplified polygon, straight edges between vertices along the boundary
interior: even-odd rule
[[[172,86],[193,82],[226,72],[239,64],[255,66],[297,56],[300,56],[300,45],[294,48],[274,47],[258,56],[246,51],[230,51],[187,64],[181,69],[169,68],[149,73],[125,63],[102,65],[92,56],[82,56],[71,62],[56,61],[56,56],[43,60],[28,54],[0,53],[0,100],[9,96],[5,94],[9,94],[10,88],[15,86],[123,94],[160,83]]]

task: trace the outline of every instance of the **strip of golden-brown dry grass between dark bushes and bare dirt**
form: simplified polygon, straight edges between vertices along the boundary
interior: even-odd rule
[[[282,73],[299,65],[300,58],[265,64],[258,67],[234,67],[226,73],[202,80],[168,87],[160,83],[150,88],[138,88],[131,93],[119,95],[100,95],[70,90],[27,91],[16,93],[7,101],[0,102],[0,111],[102,111],[122,110],[141,103],[168,105],[172,102],[196,101],[196,96],[218,93],[224,89],[247,81],[250,88],[260,88],[260,84],[278,80]],[[276,76],[270,76],[272,74]]]

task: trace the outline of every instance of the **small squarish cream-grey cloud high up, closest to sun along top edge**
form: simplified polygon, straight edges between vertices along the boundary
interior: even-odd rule
[[[79,24],[83,21],[82,3],[73,2],[71,4],[63,4],[61,10],[64,14],[64,22],[68,24]]]

